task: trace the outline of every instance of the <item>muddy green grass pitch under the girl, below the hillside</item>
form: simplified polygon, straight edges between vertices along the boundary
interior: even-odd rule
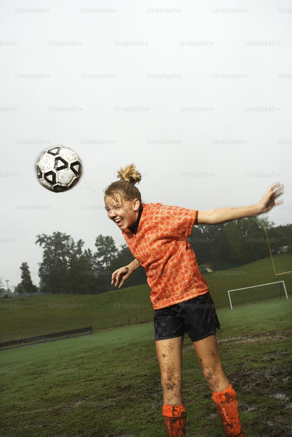
[[[286,436],[292,300],[222,310],[218,344],[244,436]],[[165,436],[152,323],[0,352],[4,436]],[[192,343],[183,344],[187,437],[223,436]]]

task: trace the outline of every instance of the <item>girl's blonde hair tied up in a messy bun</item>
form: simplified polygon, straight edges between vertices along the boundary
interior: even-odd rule
[[[138,188],[135,187],[135,184],[139,184],[142,179],[141,174],[136,170],[134,164],[129,164],[124,169],[121,167],[120,170],[118,170],[117,177],[120,180],[112,182],[103,190],[105,193],[104,200],[106,200],[106,197],[110,197],[116,202],[116,205],[119,205],[119,201],[116,197],[117,194],[120,194],[122,202],[123,200],[132,201],[137,198],[140,201],[140,210],[143,207],[143,203],[141,193]],[[122,207],[122,205],[119,206]]]

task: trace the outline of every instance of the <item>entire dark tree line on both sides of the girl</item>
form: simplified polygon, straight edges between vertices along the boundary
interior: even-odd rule
[[[288,246],[288,251],[291,251],[292,224],[274,227],[273,222],[254,216],[218,225],[194,226],[188,240],[201,272],[232,268],[268,257],[264,223],[271,252],[280,253],[283,246]],[[117,248],[111,236],[96,237],[95,252],[84,249],[82,239],[74,241],[70,235],[61,232],[53,232],[51,236],[37,235],[35,244],[43,248],[39,288],[51,294],[99,294],[115,289],[111,285],[112,273],[134,259],[126,243]],[[22,263],[21,271],[21,283],[16,291],[19,294],[37,291],[27,263]],[[142,267],[127,279],[128,287],[145,283],[147,276]]]

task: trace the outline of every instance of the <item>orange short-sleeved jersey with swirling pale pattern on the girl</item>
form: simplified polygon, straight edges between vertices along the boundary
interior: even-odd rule
[[[151,288],[154,309],[165,308],[209,291],[186,237],[192,233],[196,209],[145,203],[136,235],[122,231],[140,261]]]

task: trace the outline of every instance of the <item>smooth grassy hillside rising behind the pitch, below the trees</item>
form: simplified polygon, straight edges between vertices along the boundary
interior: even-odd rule
[[[292,270],[292,254],[274,257],[276,271]],[[134,273],[135,274],[135,273]],[[216,309],[229,308],[227,290],[285,281],[292,296],[292,275],[274,275],[271,258],[242,267],[204,274]],[[127,286],[127,282],[125,282]],[[148,284],[114,289],[101,295],[46,295],[1,299],[0,342],[92,326],[93,330],[151,322]],[[16,305],[16,306],[14,306]],[[63,307],[62,307],[63,305]]]

